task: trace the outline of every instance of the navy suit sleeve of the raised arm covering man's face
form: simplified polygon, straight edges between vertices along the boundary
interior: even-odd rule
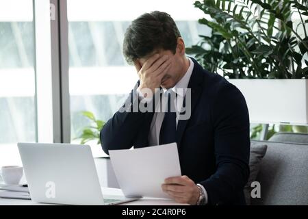
[[[125,104],[107,121],[100,133],[103,151],[130,149],[138,134],[138,127],[144,122],[146,113],[140,112],[138,83],[129,94]]]

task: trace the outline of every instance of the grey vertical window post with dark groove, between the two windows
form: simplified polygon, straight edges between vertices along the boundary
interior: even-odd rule
[[[66,0],[50,0],[50,4],[52,9],[50,22],[53,90],[53,142],[70,143],[67,2]]]

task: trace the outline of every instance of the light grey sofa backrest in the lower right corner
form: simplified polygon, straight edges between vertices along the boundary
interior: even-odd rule
[[[307,205],[308,145],[281,142],[268,145],[257,181],[261,198],[252,198],[253,205]]]

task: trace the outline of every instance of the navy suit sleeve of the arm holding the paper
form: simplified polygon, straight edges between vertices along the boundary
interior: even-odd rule
[[[249,176],[249,116],[244,96],[231,83],[218,89],[212,107],[216,172],[202,181],[211,205],[233,203]]]

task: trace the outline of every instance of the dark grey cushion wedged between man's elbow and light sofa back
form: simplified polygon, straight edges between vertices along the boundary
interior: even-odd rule
[[[249,168],[251,170],[248,182],[244,187],[244,195],[247,205],[251,205],[251,183],[256,181],[259,172],[261,159],[266,154],[266,149],[268,146],[266,144],[260,144],[259,142],[251,142],[251,154],[249,159]]]

